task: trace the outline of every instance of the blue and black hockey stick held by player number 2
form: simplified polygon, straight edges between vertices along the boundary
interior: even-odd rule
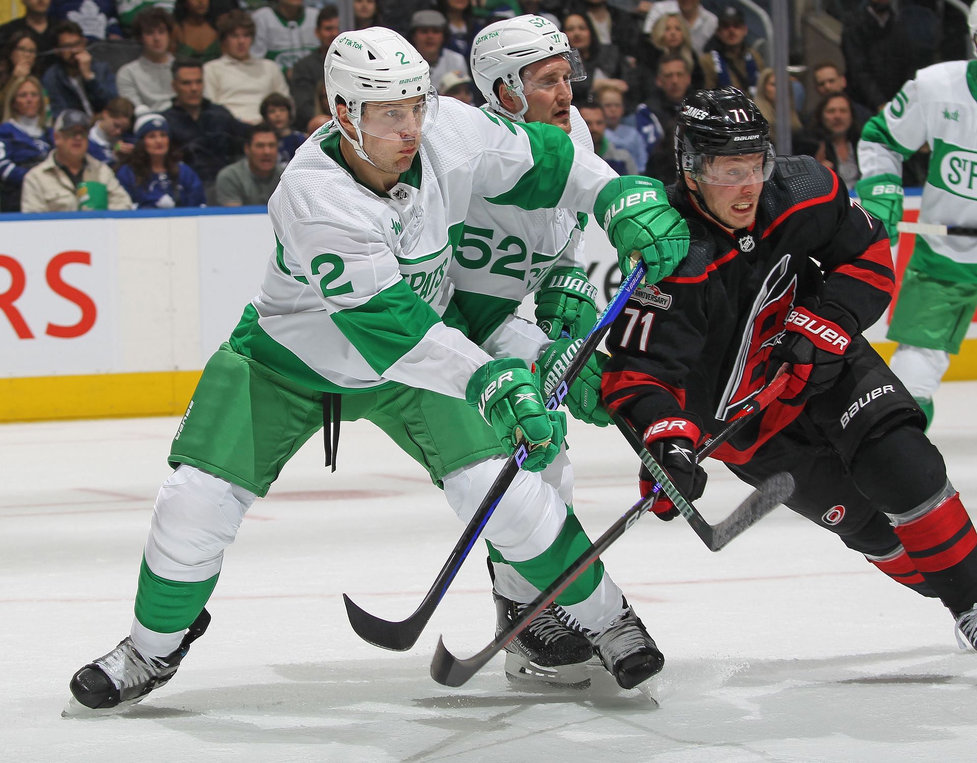
[[[639,262],[634,270],[631,271],[630,275],[620,284],[617,293],[611,302],[608,303],[608,306],[604,309],[604,312],[598,318],[594,327],[590,329],[590,333],[587,334],[580,349],[573,356],[573,360],[567,365],[567,370],[564,371],[563,375],[556,382],[555,388],[546,399],[547,408],[555,410],[560,406],[560,403],[563,403],[567,397],[567,393],[570,391],[570,385],[573,383],[573,380],[579,375],[587,359],[597,349],[597,346],[601,343],[605,334],[607,334],[614,319],[624,307],[624,304],[630,299],[631,294],[645,277],[646,270],[645,264]],[[475,512],[475,516],[469,521],[464,532],[461,533],[461,537],[458,538],[458,542],[451,549],[445,566],[442,567],[441,572],[438,572],[438,576],[435,578],[431,588],[412,615],[399,622],[385,620],[375,615],[370,615],[354,603],[349,596],[343,594],[343,601],[346,602],[346,614],[349,615],[350,625],[353,626],[353,630],[356,631],[357,635],[363,641],[382,647],[383,649],[391,649],[397,652],[404,652],[414,645],[421,635],[421,631],[424,630],[424,626],[431,619],[431,615],[434,615],[434,611],[445,597],[448,586],[461,569],[461,565],[468,557],[468,553],[472,550],[472,546],[475,545],[475,541],[478,540],[482,530],[485,529],[488,518],[491,517],[492,512],[495,511],[495,507],[502,500],[506,489],[516,479],[516,475],[519,473],[519,469],[528,455],[529,450],[523,444],[506,460],[502,471],[495,478],[495,482],[488,488],[488,493],[482,499],[482,503]]]

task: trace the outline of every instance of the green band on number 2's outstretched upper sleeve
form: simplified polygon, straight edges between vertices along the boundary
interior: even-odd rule
[[[521,209],[558,206],[573,168],[573,141],[560,128],[542,122],[516,126],[529,136],[532,168],[512,189],[486,200]]]

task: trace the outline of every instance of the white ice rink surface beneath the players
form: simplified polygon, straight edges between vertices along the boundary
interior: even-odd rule
[[[977,383],[948,384],[931,432],[977,508]],[[371,425],[319,438],[258,501],[226,556],[213,622],[180,672],[124,716],[60,717],[71,674],[126,635],[176,419],[0,427],[0,761],[968,761],[977,654],[953,620],[830,533],[778,509],[712,554],[647,517],[605,556],[666,656],[651,692],[593,671],[583,692],[515,689],[496,657],[465,687],[428,676],[492,636],[473,553],[415,648],[361,642],[341,594],[409,614],[461,530]],[[636,497],[613,430],[571,425],[576,510],[596,537]],[[710,468],[713,521],[746,487]]]

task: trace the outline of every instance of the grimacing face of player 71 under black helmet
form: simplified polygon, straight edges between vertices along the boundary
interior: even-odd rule
[[[763,153],[714,156],[706,159],[698,187],[713,216],[736,231],[756,220],[763,179]]]

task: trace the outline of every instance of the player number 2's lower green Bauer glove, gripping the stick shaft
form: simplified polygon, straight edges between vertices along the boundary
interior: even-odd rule
[[[510,455],[525,441],[530,454],[523,469],[541,472],[556,458],[567,434],[567,414],[547,410],[538,374],[518,358],[489,360],[472,374],[465,400],[479,409]]]

